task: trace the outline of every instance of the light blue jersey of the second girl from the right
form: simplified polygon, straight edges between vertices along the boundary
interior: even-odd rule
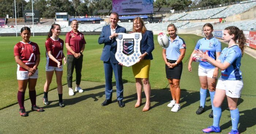
[[[195,50],[203,50],[205,52],[208,50],[208,55],[212,59],[216,59],[216,52],[221,52],[221,42],[216,39],[215,37],[212,37],[211,39],[207,40],[206,38],[198,40],[196,43]],[[200,61],[199,66],[206,68],[206,69],[212,69],[215,68],[211,63],[207,61]]]

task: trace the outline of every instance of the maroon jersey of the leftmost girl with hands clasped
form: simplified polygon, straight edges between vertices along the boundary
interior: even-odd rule
[[[35,66],[36,55],[40,54],[37,43],[19,42],[14,46],[14,56],[20,56],[20,60],[25,63],[28,67],[33,68]],[[18,64],[19,71],[27,71]]]

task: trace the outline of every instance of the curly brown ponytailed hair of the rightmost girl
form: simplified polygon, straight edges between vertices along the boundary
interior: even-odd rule
[[[242,51],[242,55],[243,55],[244,49],[246,47],[246,45],[245,45],[246,38],[244,36],[244,32],[235,26],[226,27],[225,30],[228,30],[229,35],[232,35],[232,34],[235,35],[233,40],[235,40],[235,41],[238,40],[238,46],[239,46],[240,50]]]

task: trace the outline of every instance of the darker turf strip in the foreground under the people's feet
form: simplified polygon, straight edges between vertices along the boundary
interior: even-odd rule
[[[74,84],[74,83],[73,83]],[[57,90],[49,92],[50,105],[42,103],[42,95],[37,96],[37,105],[44,112],[31,111],[30,100],[25,101],[29,117],[20,117],[18,104],[2,109],[0,112],[0,133],[34,133],[39,134],[202,134],[202,129],[212,125],[210,97],[207,97],[206,111],[197,115],[200,104],[199,92],[182,90],[181,110],[177,113],[170,111],[167,104],[171,100],[168,89],[151,90],[151,109],[142,112],[146,98],[142,92],[142,106],[134,108],[136,90],[134,83],[124,84],[125,107],[120,108],[116,100],[116,87],[113,88],[113,103],[101,106],[105,100],[105,89],[102,82],[82,81],[83,93],[68,96],[67,85],[63,86],[65,107],[58,106]],[[255,132],[256,118],[255,97],[242,96],[238,101],[240,110],[239,131],[244,134]],[[231,130],[230,112],[226,101],[222,106],[220,126],[221,134]]]

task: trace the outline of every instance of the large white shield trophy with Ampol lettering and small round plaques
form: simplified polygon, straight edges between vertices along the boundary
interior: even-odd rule
[[[124,66],[132,66],[136,64],[141,55],[140,52],[140,40],[142,39],[142,34],[135,33],[118,33],[116,37],[117,41],[117,51],[116,59],[118,62],[122,63]]]

